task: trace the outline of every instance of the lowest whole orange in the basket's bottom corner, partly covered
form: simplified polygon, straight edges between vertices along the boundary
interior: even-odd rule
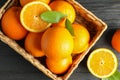
[[[72,64],[72,57],[68,56],[60,60],[46,58],[46,65],[48,69],[55,74],[65,73]]]

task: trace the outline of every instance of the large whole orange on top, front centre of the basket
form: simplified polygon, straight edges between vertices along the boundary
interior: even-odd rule
[[[73,44],[72,35],[64,27],[48,28],[41,39],[41,48],[51,59],[61,59],[71,55]]]

